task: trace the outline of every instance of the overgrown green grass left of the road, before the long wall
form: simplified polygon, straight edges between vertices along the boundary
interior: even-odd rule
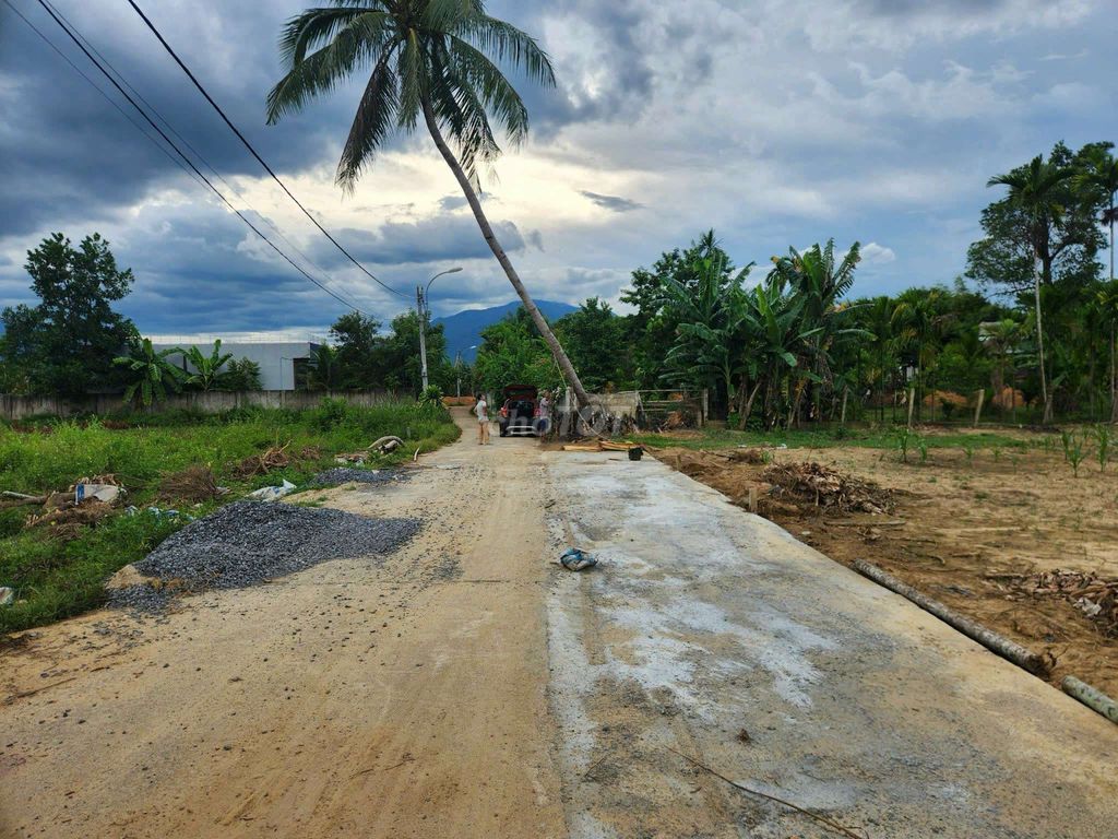
[[[404,440],[376,465],[410,460],[415,450],[434,451],[458,437],[458,427],[437,404],[390,403],[352,407],[324,399],[301,413],[264,408],[238,409],[216,416],[123,415],[60,422],[40,420],[35,431],[0,427],[0,489],[29,494],[64,490],[77,479],[115,474],[127,489],[126,503],[143,509],[155,503],[162,477],[195,464],[207,464],[217,482],[231,492],[221,502],[286,479],[305,484],[315,472],[334,465],[340,452],[362,450],[386,434]],[[316,447],[318,460],[250,479],[238,479],[236,464],[274,445],[288,451]],[[187,506],[201,516],[218,506]],[[116,512],[72,540],[49,538],[42,528],[25,529],[35,507],[0,510],[0,586],[16,590],[11,606],[0,606],[0,633],[49,623],[94,609],[104,602],[104,581],[124,565],[144,557],[183,526],[146,512]]]

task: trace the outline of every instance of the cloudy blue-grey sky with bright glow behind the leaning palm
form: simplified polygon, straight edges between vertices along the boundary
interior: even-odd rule
[[[146,334],[321,333],[348,311],[4,2],[111,91],[36,0],[0,0],[0,305],[34,303],[22,266],[44,236],[96,230],[135,274],[119,309]],[[395,136],[352,195],[334,185],[366,79],[265,125],[282,75],[276,40],[299,0],[141,6],[300,200],[399,294],[300,214],[125,0],[53,2],[224,176],[216,183],[238,209],[364,312],[387,322],[414,305],[417,283],[454,266],[463,271],[432,286],[436,315],[512,299],[425,133]],[[710,228],[739,265],[758,263],[757,277],[789,246],[834,237],[862,244],[855,295],[949,283],[997,197],[991,176],[1060,140],[1118,141],[1114,0],[490,0],[487,10],[537,37],[558,79],[544,91],[513,77],[532,133],[484,178],[498,236],[540,299],[617,304],[634,268]]]

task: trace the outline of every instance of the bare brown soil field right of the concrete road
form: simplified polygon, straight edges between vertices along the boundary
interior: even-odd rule
[[[826,556],[871,562],[1044,653],[1053,684],[1074,675],[1118,695],[1118,466],[1086,462],[1076,477],[1058,449],[931,449],[908,463],[842,445],[656,456],[742,507],[752,488],[760,515]],[[773,483],[774,464],[795,473],[811,462],[855,479],[854,503],[827,507],[826,493]]]

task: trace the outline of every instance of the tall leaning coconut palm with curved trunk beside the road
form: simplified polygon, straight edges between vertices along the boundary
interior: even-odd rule
[[[371,67],[338,163],[337,180],[344,189],[354,188],[394,129],[411,133],[423,117],[486,244],[579,403],[589,405],[575,367],[501,247],[477,197],[479,164],[490,164],[501,153],[490,117],[513,145],[528,135],[528,110],[499,65],[522,70],[544,87],[555,86],[551,62],[536,40],[486,15],[484,0],[330,0],[324,8],[307,9],[287,21],[280,45],[290,69],[268,94],[269,124]]]

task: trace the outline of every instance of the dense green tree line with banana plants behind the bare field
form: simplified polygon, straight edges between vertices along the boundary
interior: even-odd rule
[[[589,389],[707,389],[739,427],[884,420],[910,395],[918,418],[950,418],[980,389],[1020,422],[1118,421],[1112,145],[1058,143],[989,186],[950,283],[855,298],[858,243],[789,248],[760,276],[711,230],[633,272],[631,313],[590,299],[553,329]],[[483,332],[473,379],[562,384],[523,314]]]

